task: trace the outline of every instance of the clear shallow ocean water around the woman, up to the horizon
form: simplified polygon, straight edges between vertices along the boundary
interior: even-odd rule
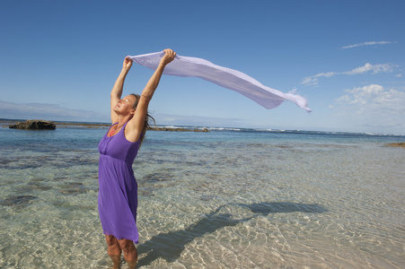
[[[405,268],[405,135],[208,129],[147,132],[138,268]],[[106,131],[0,126],[1,268],[112,266]]]

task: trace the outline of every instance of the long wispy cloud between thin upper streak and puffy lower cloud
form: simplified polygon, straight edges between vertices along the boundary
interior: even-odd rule
[[[318,84],[318,78],[320,77],[332,77],[337,74],[349,74],[349,75],[354,75],[354,74],[365,74],[367,72],[373,71],[373,74],[377,73],[391,73],[393,72],[394,68],[398,67],[398,65],[391,65],[391,64],[377,64],[377,65],[371,65],[369,63],[366,63],[363,66],[359,66],[357,68],[354,68],[350,71],[346,72],[328,72],[328,73],[320,73],[320,74],[315,74],[313,76],[308,76],[303,79],[303,82],[301,84],[304,85],[317,85]]]

